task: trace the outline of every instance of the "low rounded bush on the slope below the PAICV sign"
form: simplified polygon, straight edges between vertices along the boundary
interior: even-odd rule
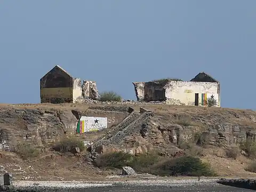
[[[80,151],[83,151],[85,149],[83,141],[73,136],[58,140],[53,144],[52,148],[56,151],[60,151],[61,153],[67,153],[76,147],[79,147]]]

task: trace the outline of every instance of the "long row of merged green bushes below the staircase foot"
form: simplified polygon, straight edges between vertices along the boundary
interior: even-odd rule
[[[102,168],[119,169],[123,166],[131,166],[137,172],[149,172],[156,175],[215,175],[208,164],[193,156],[169,158],[166,161],[161,161],[156,153],[133,156],[124,152],[115,152],[98,156],[95,165]]]

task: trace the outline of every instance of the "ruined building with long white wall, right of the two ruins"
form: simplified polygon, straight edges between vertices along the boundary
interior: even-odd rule
[[[163,79],[152,82],[133,82],[138,101],[179,101],[180,105],[207,106],[207,99],[220,107],[220,83],[202,72],[190,81]]]

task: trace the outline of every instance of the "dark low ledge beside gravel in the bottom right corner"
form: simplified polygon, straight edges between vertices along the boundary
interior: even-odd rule
[[[220,179],[222,185],[256,190],[256,179]]]

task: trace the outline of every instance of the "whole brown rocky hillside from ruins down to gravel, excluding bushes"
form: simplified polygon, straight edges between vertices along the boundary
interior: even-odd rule
[[[143,103],[1,104],[0,107],[2,149],[17,150],[20,142],[22,145],[29,143],[30,148],[40,148],[37,155],[27,159],[22,159],[19,153],[1,152],[0,165],[6,171],[13,172],[18,179],[29,176],[27,179],[95,180],[121,173],[118,169],[102,170],[93,166],[90,151],[84,150],[74,155],[51,148],[54,142],[75,133],[81,115],[106,116],[110,119],[106,130],[76,135],[83,141],[93,142],[92,148],[98,148],[103,153],[132,150],[138,155],[154,150],[168,158],[182,154],[186,149],[184,143],[196,143],[197,139],[204,144],[203,147],[195,145],[196,149],[200,148],[198,156],[210,163],[218,175],[255,176],[245,171],[251,162],[246,154],[239,153],[236,159],[226,154],[229,146],[240,145],[248,138],[255,137],[256,113],[252,110]],[[195,138],[195,134],[200,137]]]

